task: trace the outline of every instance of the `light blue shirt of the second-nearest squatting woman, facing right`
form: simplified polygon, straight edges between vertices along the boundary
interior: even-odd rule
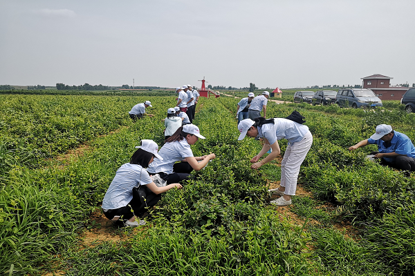
[[[158,154],[163,160],[155,158],[147,169],[149,173],[164,172],[167,175],[173,173],[173,165],[176,161],[183,161],[186,157],[193,157],[192,149],[186,139],[164,144]]]

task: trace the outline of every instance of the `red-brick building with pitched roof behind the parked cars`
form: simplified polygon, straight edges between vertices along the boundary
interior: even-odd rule
[[[408,90],[403,86],[390,86],[392,77],[386,77],[384,75],[375,74],[369,77],[361,78],[363,80],[362,88],[369,88],[379,99],[402,99],[402,96]]]

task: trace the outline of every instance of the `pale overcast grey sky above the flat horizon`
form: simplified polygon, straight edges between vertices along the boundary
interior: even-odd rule
[[[414,0],[0,0],[0,85],[415,83]]]

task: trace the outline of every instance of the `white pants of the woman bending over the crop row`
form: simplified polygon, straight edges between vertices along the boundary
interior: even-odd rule
[[[299,166],[306,158],[313,144],[313,135],[308,131],[301,141],[288,145],[281,162],[281,186],[285,187],[286,195],[295,195]]]

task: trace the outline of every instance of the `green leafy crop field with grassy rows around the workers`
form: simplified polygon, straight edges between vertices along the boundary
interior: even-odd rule
[[[414,275],[414,172],[368,161],[373,145],[347,150],[378,124],[415,141],[415,115],[397,103],[268,103],[268,118],[299,111],[314,139],[293,204],[275,207],[267,189],[281,159],[250,169],[261,144],[237,141],[239,99],[201,98],[194,124],[206,139],[192,150],[216,159],[131,229],[102,219],[100,204],[140,139],[163,145],[174,96],[0,99],[1,275]],[[147,99],[155,116],[133,124],[128,111]]]

